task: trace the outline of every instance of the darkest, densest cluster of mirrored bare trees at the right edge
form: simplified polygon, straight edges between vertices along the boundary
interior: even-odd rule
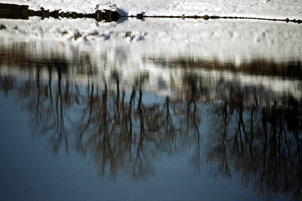
[[[233,166],[242,175],[242,185],[252,184],[259,195],[269,198],[294,192],[294,198],[301,199],[302,113],[298,102],[289,98],[282,105],[274,102],[260,107],[255,98],[247,105],[248,91],[232,91],[216,106],[219,119],[214,124],[222,122],[223,128],[222,134],[212,139],[216,146],[208,159],[217,162],[219,171],[228,177]]]

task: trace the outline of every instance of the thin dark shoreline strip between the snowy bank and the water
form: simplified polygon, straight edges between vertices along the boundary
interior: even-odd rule
[[[105,21],[105,22],[114,22],[119,18],[137,18],[139,20],[143,18],[180,18],[180,19],[246,19],[246,20],[265,20],[265,21],[281,21],[281,22],[292,22],[301,24],[302,20],[290,20],[286,19],[267,19],[267,18],[249,18],[249,17],[221,17],[221,16],[145,16],[143,14],[130,15],[130,16],[120,16],[117,11],[111,10],[97,10],[96,13],[93,14],[83,14],[77,12],[60,12],[60,10],[49,12],[49,10],[45,10],[41,7],[40,11],[33,11],[28,9],[28,5],[16,5],[16,4],[3,4],[0,3],[0,19],[23,19],[28,20],[29,17],[38,16],[43,20],[44,18],[93,18],[97,21]]]

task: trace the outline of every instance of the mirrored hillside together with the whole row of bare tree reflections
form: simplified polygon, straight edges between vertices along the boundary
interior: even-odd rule
[[[29,112],[53,154],[75,150],[100,178],[124,173],[138,181],[155,174],[161,155],[190,151],[192,171],[208,163],[214,176],[238,174],[264,198],[301,199],[299,59],[238,66],[146,55],[126,65],[110,59],[110,48],[99,52],[100,63],[87,50],[66,59],[28,46],[2,47],[0,88]],[[123,47],[115,51],[123,55]]]

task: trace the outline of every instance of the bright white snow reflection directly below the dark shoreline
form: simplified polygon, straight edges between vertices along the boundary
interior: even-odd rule
[[[236,63],[255,57],[287,59],[302,55],[302,26],[284,22],[128,19],[121,23],[97,23],[93,19],[41,21],[35,17],[28,21],[0,20],[0,24],[6,27],[0,31],[0,38],[74,41],[80,33],[81,37],[70,45],[104,49],[129,42],[143,43],[128,45],[128,51],[135,54],[158,53],[170,57],[189,53]]]

